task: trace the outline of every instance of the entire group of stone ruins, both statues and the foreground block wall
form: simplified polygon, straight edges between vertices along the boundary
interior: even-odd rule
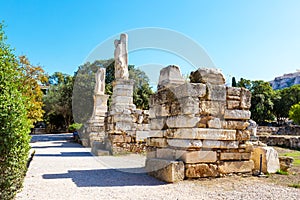
[[[279,168],[276,151],[254,148],[249,142],[251,93],[247,89],[226,87],[217,69],[199,68],[188,82],[179,67],[171,65],[160,71],[150,110],[139,110],[133,104],[127,54],[127,35],[122,34],[115,41],[109,111],[105,69],[96,73],[94,112],[85,125],[88,137],[82,140],[95,155],[146,151],[145,169],[166,182],[250,173],[259,168],[260,155],[266,173]]]

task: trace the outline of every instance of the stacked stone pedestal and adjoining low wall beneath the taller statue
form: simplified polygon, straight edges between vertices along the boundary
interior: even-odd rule
[[[116,80],[107,117],[107,148],[112,154],[145,151],[148,115],[133,104],[133,81]]]

